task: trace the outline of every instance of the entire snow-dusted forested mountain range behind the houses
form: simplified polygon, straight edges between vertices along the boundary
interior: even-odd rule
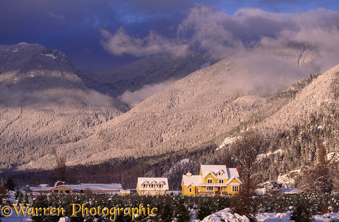
[[[316,47],[286,43],[217,63],[193,53],[79,71],[58,51],[1,46],[0,167],[50,166],[60,155],[68,166],[152,166],[172,158],[182,167],[176,163],[202,150],[208,152],[200,160],[213,164],[215,145],[253,128],[265,135],[262,153],[270,154],[262,155],[262,167],[276,169],[262,179],[273,178],[314,159],[320,126],[328,150],[339,151],[339,66],[329,69],[320,55]],[[145,173],[161,176],[165,168]]]

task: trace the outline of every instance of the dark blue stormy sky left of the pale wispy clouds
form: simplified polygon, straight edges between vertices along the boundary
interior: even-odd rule
[[[172,35],[193,0],[11,0],[0,1],[0,45],[37,43],[57,49],[80,69],[108,68],[135,60],[112,56],[101,46],[101,30],[123,26],[143,39],[151,29]],[[199,2],[199,1],[198,1]],[[217,2],[201,0],[201,2]]]

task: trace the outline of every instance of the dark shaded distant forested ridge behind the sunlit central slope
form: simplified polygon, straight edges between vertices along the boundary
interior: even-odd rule
[[[150,56],[107,70],[82,71],[80,77],[98,91],[118,97],[126,91],[135,92],[155,84],[163,84],[158,87],[160,91],[169,83],[215,62],[212,57],[196,52],[179,57]]]

